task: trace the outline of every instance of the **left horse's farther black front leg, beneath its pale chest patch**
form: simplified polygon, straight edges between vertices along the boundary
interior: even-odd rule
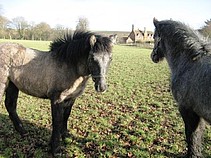
[[[64,140],[66,137],[69,136],[68,130],[67,130],[67,121],[71,113],[72,106],[75,102],[75,99],[69,99],[65,101],[64,103],[64,112],[63,112],[63,124],[62,124],[62,130],[61,135],[62,139]]]

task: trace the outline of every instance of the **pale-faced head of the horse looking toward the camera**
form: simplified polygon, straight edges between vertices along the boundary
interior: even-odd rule
[[[112,43],[107,37],[90,37],[91,50],[89,52],[88,65],[97,92],[105,92],[107,89],[106,73],[111,62]]]

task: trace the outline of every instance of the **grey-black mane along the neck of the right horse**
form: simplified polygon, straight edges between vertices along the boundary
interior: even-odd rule
[[[211,52],[210,41],[181,22],[172,20],[160,21],[159,28],[158,34],[162,32],[161,36],[168,38],[169,43],[176,46],[177,50],[188,50],[189,55],[192,57],[201,53],[207,54]]]

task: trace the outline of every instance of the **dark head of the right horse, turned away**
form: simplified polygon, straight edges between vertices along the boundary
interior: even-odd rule
[[[157,19],[153,19],[153,23],[155,25],[155,33],[154,33],[154,48],[151,53],[152,61],[158,63],[164,58],[164,50],[163,50],[163,41],[160,37],[159,33],[159,21]]]

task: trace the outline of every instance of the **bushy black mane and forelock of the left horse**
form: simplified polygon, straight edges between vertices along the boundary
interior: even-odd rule
[[[95,35],[97,41],[93,47],[95,52],[111,52],[111,41],[108,37],[96,35],[93,32],[75,31],[55,39],[50,45],[51,55],[60,62],[76,64],[80,59],[87,59],[91,49],[90,37]]]

